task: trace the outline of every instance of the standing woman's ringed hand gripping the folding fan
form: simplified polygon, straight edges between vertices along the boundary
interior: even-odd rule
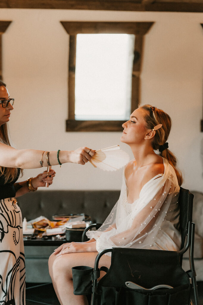
[[[69,155],[69,162],[84,165],[94,156],[94,150],[88,147],[80,147],[72,150]]]

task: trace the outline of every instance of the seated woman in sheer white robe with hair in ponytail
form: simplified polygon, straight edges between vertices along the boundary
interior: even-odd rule
[[[118,202],[98,231],[87,232],[89,241],[66,243],[49,258],[49,272],[63,305],[87,304],[85,296],[73,295],[71,268],[94,267],[95,257],[103,249],[180,249],[178,195],[182,176],[166,143],[171,119],[161,109],[144,105],[131,114],[123,128],[121,141],[130,145],[134,159],[125,167]],[[100,266],[110,264],[108,255],[100,259]]]

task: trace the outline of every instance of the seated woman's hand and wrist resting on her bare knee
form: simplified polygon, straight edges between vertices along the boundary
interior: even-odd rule
[[[60,256],[67,253],[97,252],[95,242],[67,242],[58,247],[54,254]]]

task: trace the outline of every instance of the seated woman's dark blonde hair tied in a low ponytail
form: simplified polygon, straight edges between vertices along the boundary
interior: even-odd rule
[[[172,124],[171,118],[163,110],[152,107],[151,105],[140,106],[140,108],[145,110],[144,119],[148,129],[153,129],[156,125],[162,124],[162,127],[156,130],[152,142],[153,149],[159,150],[160,146],[164,145],[168,139]],[[160,156],[166,158],[169,161],[169,164],[173,166],[178,179],[178,184],[181,185],[183,183],[183,178],[181,172],[176,167],[177,161],[174,154],[166,148],[160,152]]]

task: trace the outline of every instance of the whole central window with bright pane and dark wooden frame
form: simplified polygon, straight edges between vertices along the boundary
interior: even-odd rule
[[[139,103],[143,35],[152,22],[61,22],[69,34],[66,131],[121,131]]]

